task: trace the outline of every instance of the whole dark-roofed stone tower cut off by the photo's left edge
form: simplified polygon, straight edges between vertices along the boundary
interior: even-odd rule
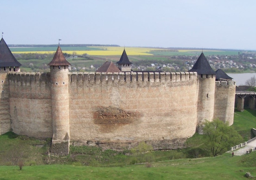
[[[19,72],[21,64],[5,43],[0,40],[0,134],[11,130],[8,72]]]

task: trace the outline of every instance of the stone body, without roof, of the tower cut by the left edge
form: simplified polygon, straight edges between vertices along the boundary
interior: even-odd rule
[[[1,71],[2,72],[2,71]],[[7,73],[0,73],[0,135],[11,130]]]

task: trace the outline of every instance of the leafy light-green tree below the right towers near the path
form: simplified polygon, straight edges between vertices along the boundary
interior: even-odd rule
[[[204,123],[203,132],[206,135],[206,147],[211,150],[212,156],[217,156],[226,152],[229,147],[242,142],[242,137],[228,123],[224,123],[218,119],[212,122]]]

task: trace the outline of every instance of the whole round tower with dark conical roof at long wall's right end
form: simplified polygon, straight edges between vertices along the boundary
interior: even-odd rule
[[[215,72],[203,53],[189,72],[197,72],[198,74],[197,132],[201,133],[202,124],[205,120],[213,120]]]

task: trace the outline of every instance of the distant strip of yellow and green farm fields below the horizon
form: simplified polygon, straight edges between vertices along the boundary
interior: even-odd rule
[[[17,47],[10,48],[12,53],[55,53],[57,47]],[[90,56],[121,56],[124,47],[61,47],[63,53],[68,54],[88,54]],[[173,55],[197,55],[202,52],[201,50],[170,50],[165,48],[143,48],[143,47],[125,47],[128,56],[173,56]],[[204,51],[205,55],[225,54],[233,55],[237,54],[236,51],[216,51],[207,50]]]

